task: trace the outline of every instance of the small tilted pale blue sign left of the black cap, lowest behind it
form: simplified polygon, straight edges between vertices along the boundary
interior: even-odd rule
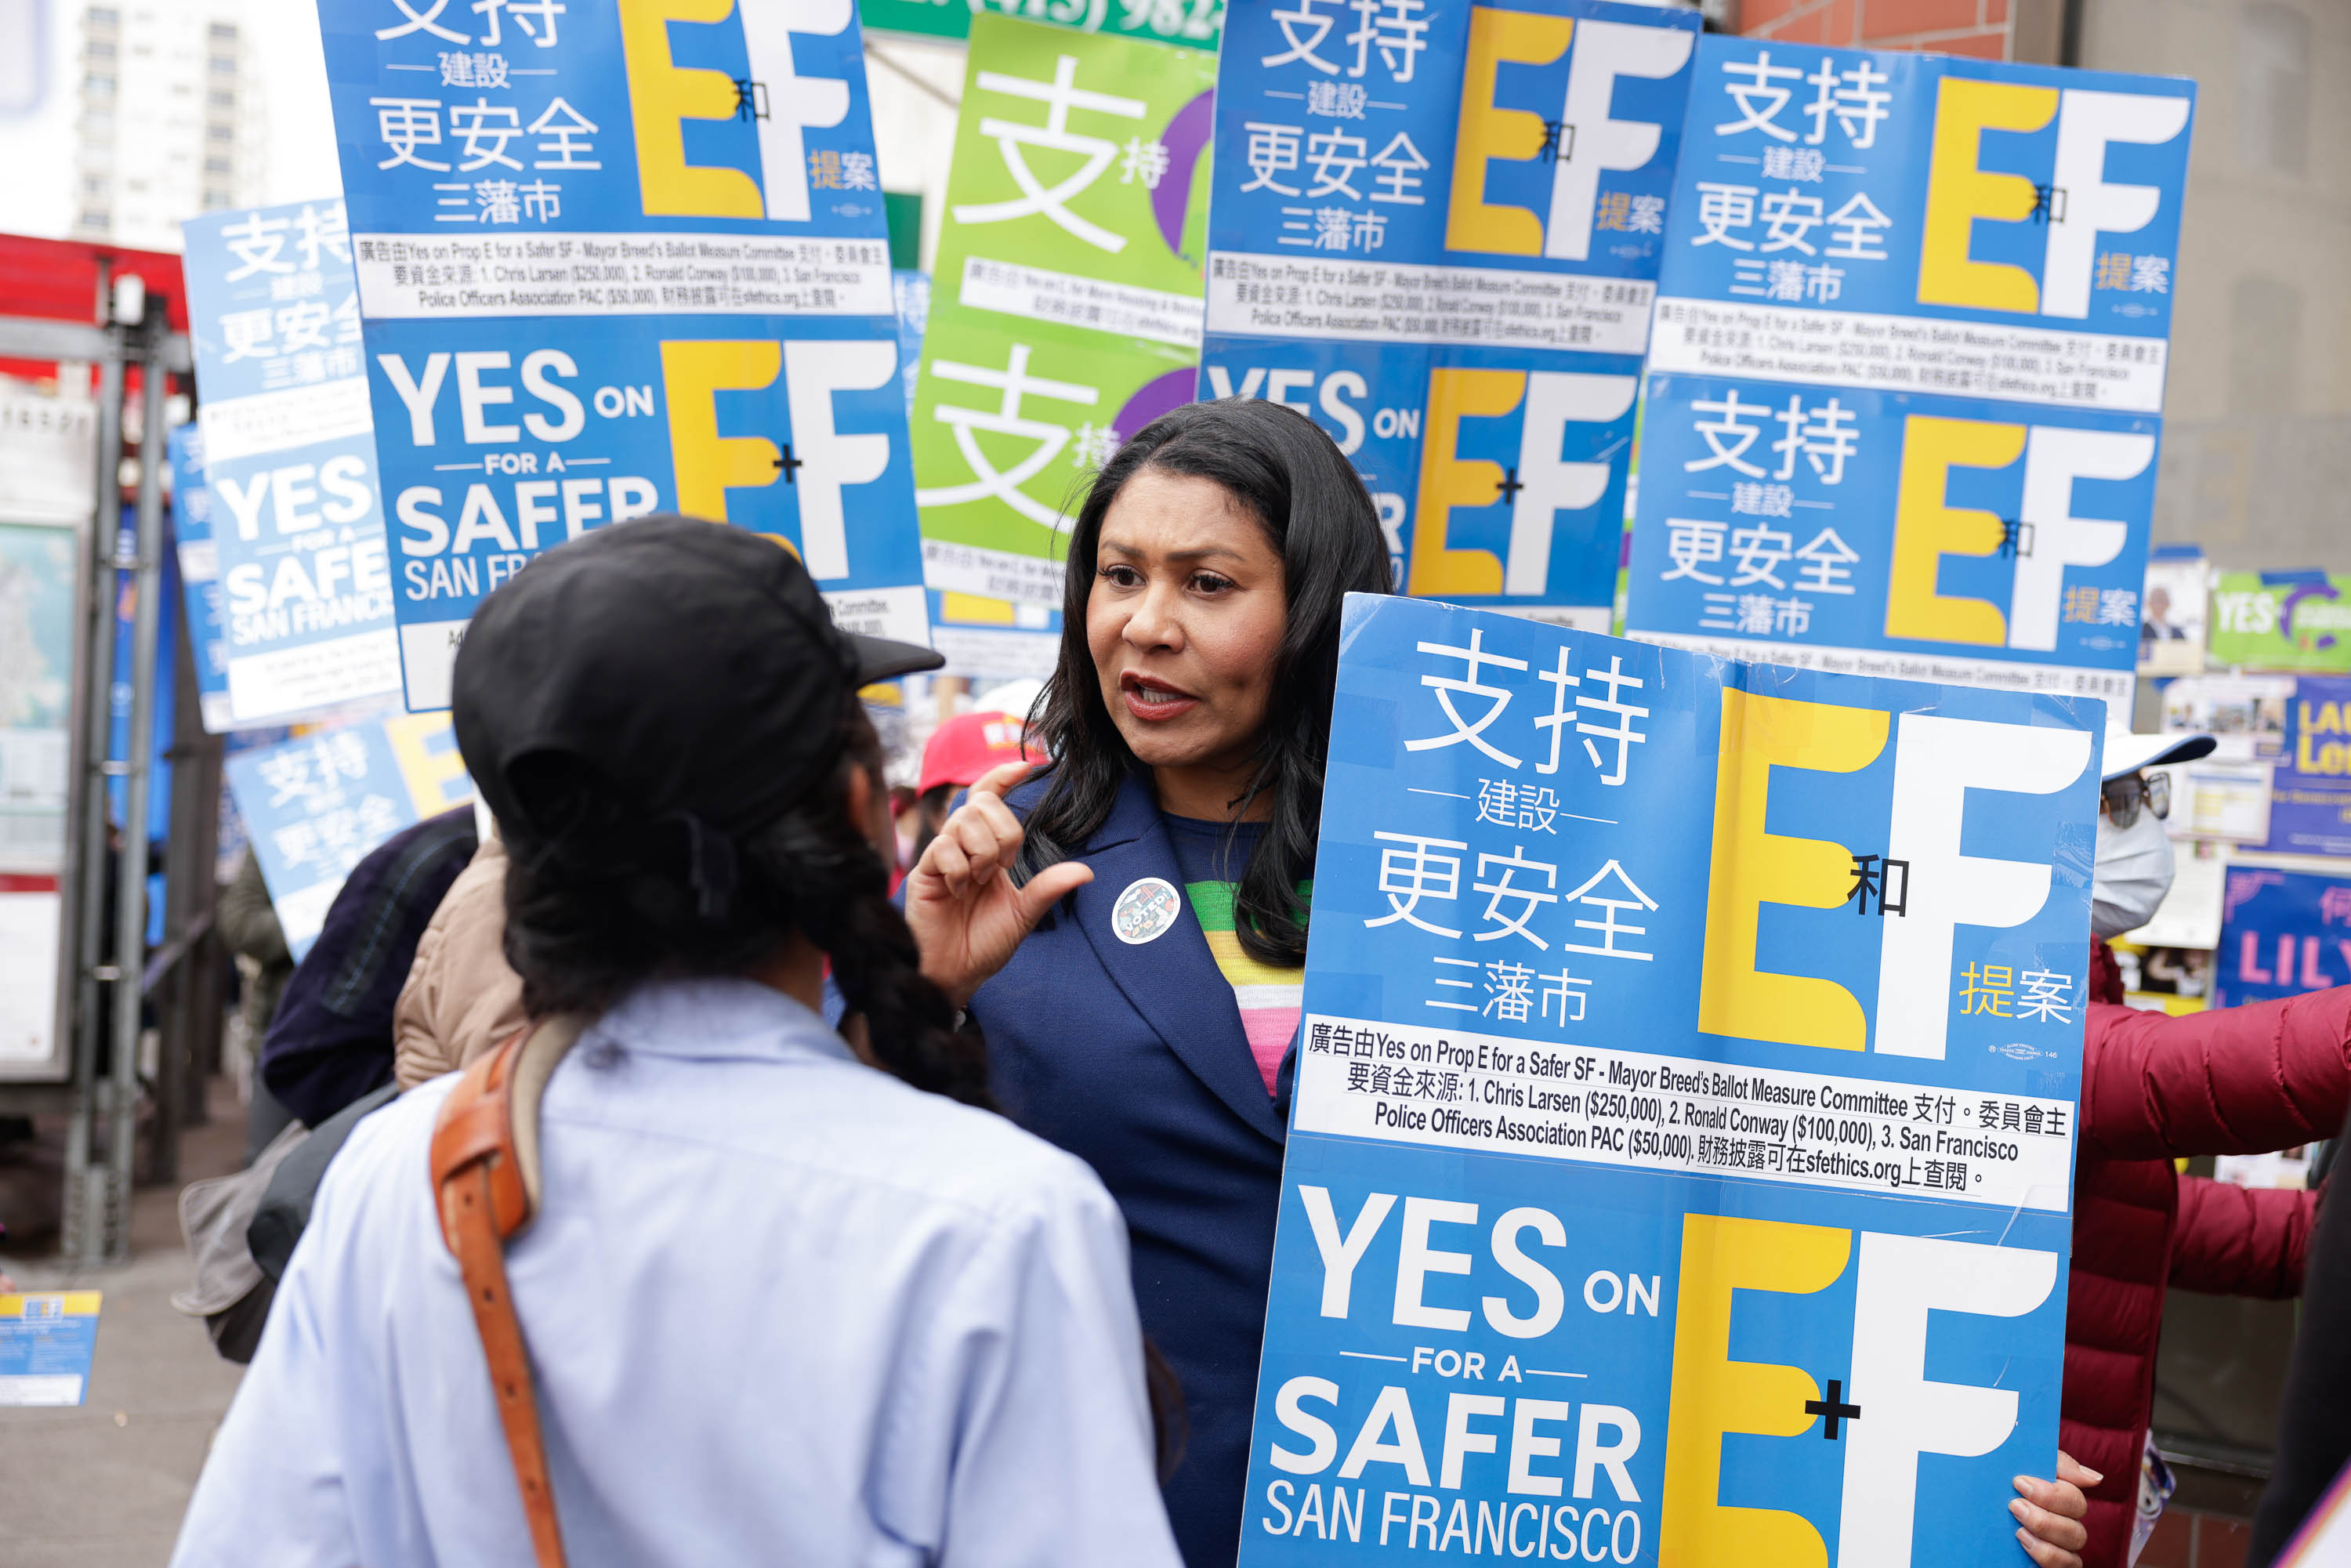
[[[237,752],[228,788],[296,961],[367,851],[473,799],[444,712],[360,719]]]

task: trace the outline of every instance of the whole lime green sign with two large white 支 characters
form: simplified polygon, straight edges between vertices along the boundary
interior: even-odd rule
[[[1051,670],[1063,508],[1192,402],[1213,87],[1197,49],[973,19],[915,390],[950,670]]]

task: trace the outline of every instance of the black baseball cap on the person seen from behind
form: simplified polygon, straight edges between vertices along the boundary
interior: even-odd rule
[[[743,835],[835,766],[858,686],[943,663],[839,630],[783,541],[663,512],[562,543],[489,595],[451,717],[510,830],[560,835],[534,806],[569,776],[632,813]]]

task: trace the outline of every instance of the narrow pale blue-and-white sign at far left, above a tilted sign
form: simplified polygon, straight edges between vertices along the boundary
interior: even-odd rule
[[[216,212],[181,230],[230,722],[397,691],[343,205]]]

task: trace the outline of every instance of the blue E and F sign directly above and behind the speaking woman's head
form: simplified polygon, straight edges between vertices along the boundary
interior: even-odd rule
[[[1695,21],[1232,14],[1201,395],[1317,418],[1406,592],[1606,625]]]

